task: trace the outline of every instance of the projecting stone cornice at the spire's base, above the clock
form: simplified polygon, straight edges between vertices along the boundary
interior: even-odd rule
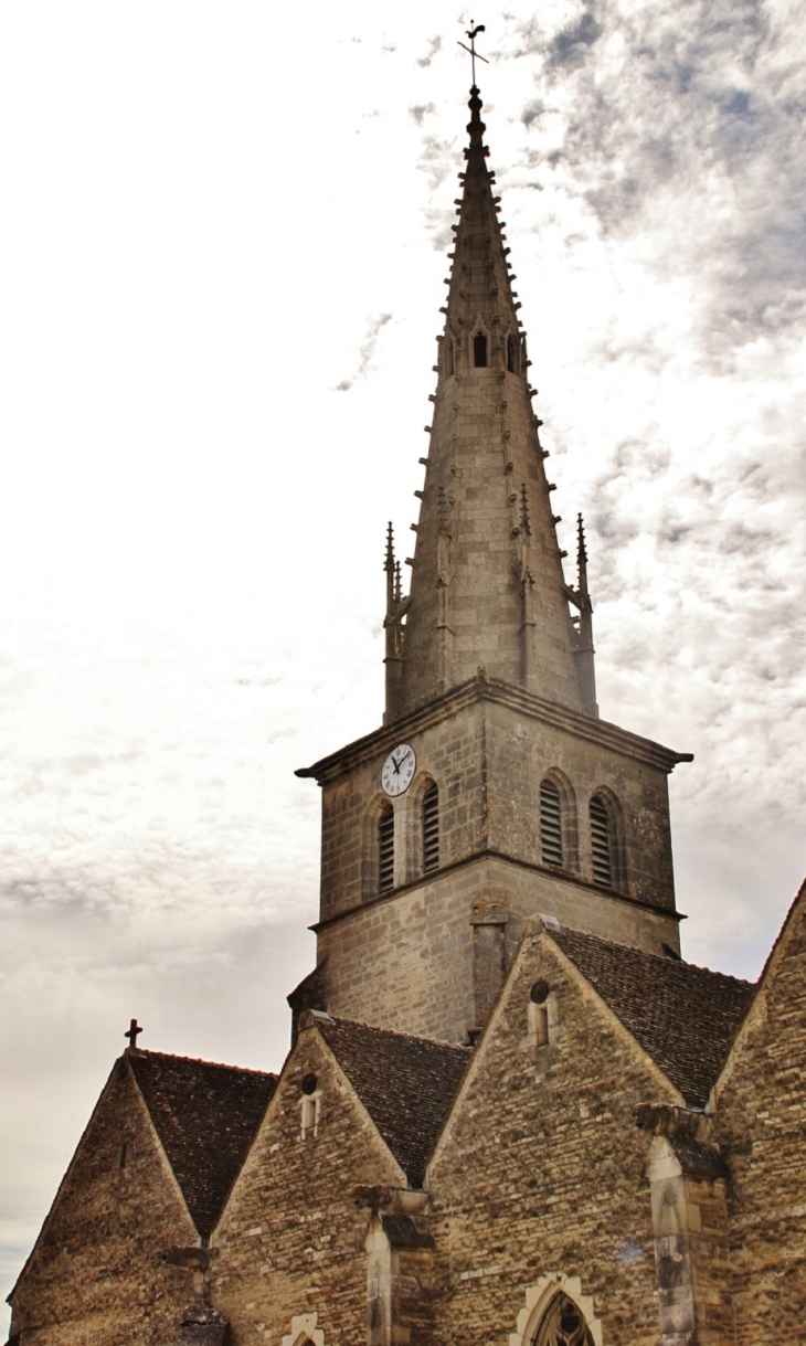
[[[532,720],[538,720],[552,728],[573,734],[575,738],[585,739],[588,743],[597,743],[611,752],[620,752],[623,756],[645,762],[647,766],[654,766],[661,771],[669,773],[674,770],[678,762],[694,760],[693,752],[675,752],[673,748],[663,747],[662,743],[654,743],[653,739],[645,739],[639,734],[622,730],[618,724],[610,724],[607,720],[595,720],[589,715],[581,715],[579,711],[572,711],[557,701],[546,701],[532,692],[513,686],[510,682],[478,674],[467,682],[451,688],[449,692],[444,692],[441,696],[433,697],[424,705],[409,711],[408,715],[401,716],[398,720],[383,724],[371,734],[355,739],[353,743],[346,744],[346,747],[339,748],[338,752],[331,752],[328,756],[315,762],[314,766],[300,767],[295,771],[295,775],[301,778],[312,777],[320,785],[338,779],[338,777],[351,771],[362,762],[374,758],[385,748],[400,743],[401,739],[406,739],[412,734],[421,734],[441,720],[455,716],[467,707],[482,701],[505,705]]]

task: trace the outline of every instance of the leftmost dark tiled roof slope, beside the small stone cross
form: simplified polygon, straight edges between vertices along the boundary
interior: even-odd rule
[[[207,1238],[277,1088],[277,1075],[161,1051],[137,1051],[128,1059],[187,1209]]]

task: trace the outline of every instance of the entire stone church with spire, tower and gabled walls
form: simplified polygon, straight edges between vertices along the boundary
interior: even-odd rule
[[[690,754],[599,716],[470,109],[383,723],[297,773],[322,900],[291,1051],[241,1070],[132,1024],[16,1346],[806,1342],[806,888],[756,985],[681,960]]]

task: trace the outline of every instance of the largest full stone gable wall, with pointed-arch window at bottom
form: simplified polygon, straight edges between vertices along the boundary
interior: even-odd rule
[[[549,1043],[529,1014],[550,985]],[[634,1108],[678,1102],[552,942],[527,938],[429,1167],[435,1341],[515,1342],[529,1287],[579,1277],[606,1346],[655,1346],[647,1143]],[[560,1281],[558,1281],[560,1283]]]

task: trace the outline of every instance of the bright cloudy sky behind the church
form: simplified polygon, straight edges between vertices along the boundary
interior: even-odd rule
[[[694,752],[684,956],[755,979],[806,874],[806,11],[472,13],[601,715]],[[132,1015],[153,1050],[287,1050],[319,863],[293,770],[382,712],[468,26],[0,8],[4,1294]]]

